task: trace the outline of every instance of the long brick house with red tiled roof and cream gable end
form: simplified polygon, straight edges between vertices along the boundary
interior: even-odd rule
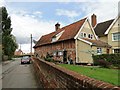
[[[93,14],[91,23],[87,17],[62,28],[57,23],[55,31],[42,36],[34,46],[36,56],[43,58],[49,53],[61,62],[93,63],[92,54],[109,53],[111,48],[96,36],[96,22]]]

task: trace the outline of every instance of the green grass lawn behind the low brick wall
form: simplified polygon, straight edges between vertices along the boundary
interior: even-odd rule
[[[68,64],[60,64],[60,66],[75,71],[77,73],[89,76],[91,78],[95,78],[98,80],[111,83],[116,86],[120,86],[120,80],[118,82],[118,72],[120,74],[120,70],[99,68],[99,67],[92,68],[92,67],[85,67],[80,65],[68,65]]]

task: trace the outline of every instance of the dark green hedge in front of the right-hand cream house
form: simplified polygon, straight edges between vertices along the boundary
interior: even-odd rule
[[[93,55],[93,60],[94,60],[94,64],[97,64],[97,65],[103,64],[103,63],[106,63],[106,64],[109,63],[112,65],[120,65],[120,54]]]

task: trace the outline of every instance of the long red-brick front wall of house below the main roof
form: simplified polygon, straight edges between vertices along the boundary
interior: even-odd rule
[[[56,42],[49,45],[43,45],[35,48],[35,53],[39,55],[40,58],[46,56],[47,53],[52,54],[56,51],[67,51],[67,57],[69,56],[72,60],[75,61],[76,53],[75,53],[75,41],[74,40],[66,40],[62,42]],[[63,61],[63,55],[53,57],[54,60]]]

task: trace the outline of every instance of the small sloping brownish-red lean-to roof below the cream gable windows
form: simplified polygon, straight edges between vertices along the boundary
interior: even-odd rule
[[[98,46],[98,47],[109,47],[109,48],[111,47],[108,43],[103,42],[101,40],[91,40],[88,38],[83,38],[83,39],[88,42],[91,42],[93,45]]]

